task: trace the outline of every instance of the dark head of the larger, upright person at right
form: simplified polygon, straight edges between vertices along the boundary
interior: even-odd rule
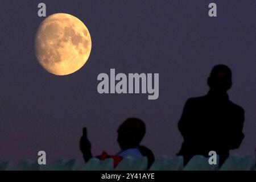
[[[208,78],[210,90],[216,93],[226,93],[232,86],[232,71],[223,64],[213,67]]]

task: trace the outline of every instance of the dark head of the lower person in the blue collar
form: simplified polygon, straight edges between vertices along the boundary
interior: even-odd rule
[[[146,126],[141,119],[128,118],[119,126],[117,142],[122,150],[139,146],[146,133]]]

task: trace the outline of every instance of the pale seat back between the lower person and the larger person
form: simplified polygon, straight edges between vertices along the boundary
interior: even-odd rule
[[[179,171],[183,168],[183,156],[160,156],[152,164],[150,171]]]

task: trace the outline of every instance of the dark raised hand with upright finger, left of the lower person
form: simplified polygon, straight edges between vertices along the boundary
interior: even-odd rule
[[[85,162],[88,162],[88,160],[92,158],[91,148],[92,145],[90,144],[90,141],[87,138],[87,129],[86,127],[84,127],[82,129],[82,137],[80,139],[80,150],[82,152]]]

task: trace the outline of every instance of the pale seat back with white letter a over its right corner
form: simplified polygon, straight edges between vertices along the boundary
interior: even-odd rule
[[[217,158],[218,159],[218,158]],[[218,164],[218,161],[217,161]],[[188,164],[183,168],[184,171],[214,171],[217,170],[218,165],[209,164],[208,158],[203,155],[195,155]]]

